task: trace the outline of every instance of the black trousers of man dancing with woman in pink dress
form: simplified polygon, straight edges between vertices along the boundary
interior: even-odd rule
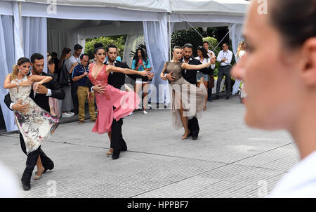
[[[112,134],[111,134],[111,148],[114,150],[126,150],[127,146],[123,135],[121,134],[121,126],[123,125],[123,119],[116,121],[113,119],[112,122]]]

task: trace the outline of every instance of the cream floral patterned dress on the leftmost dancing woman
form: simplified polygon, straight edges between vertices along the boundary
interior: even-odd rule
[[[11,83],[17,81],[17,79],[13,79]],[[22,81],[27,81],[27,77],[25,76]],[[13,103],[22,99],[22,104],[29,105],[29,110],[25,113],[14,111],[15,122],[25,141],[27,154],[37,150],[41,143],[54,133],[59,123],[57,117],[41,109],[32,98],[29,98],[31,90],[31,86],[9,89]]]

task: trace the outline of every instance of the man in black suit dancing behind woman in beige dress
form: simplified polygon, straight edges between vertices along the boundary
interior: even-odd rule
[[[180,62],[187,62],[190,65],[200,65],[202,64],[199,62],[199,60],[196,60],[192,58],[192,44],[185,44],[183,48],[183,60],[180,60]],[[207,68],[205,69],[199,69],[200,72],[206,72]],[[190,82],[190,84],[194,84],[197,86],[197,70],[186,70],[183,69],[182,71],[183,78]],[[171,74],[166,74],[166,78],[170,81],[174,81]],[[192,119],[188,119],[187,124],[189,126],[189,129],[191,131],[190,135],[192,136],[192,140],[197,140],[197,137],[199,135],[199,121],[197,121],[196,117],[193,117]]]

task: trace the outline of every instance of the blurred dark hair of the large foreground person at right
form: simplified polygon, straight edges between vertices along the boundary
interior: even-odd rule
[[[315,0],[279,0],[270,5],[270,22],[282,34],[285,45],[302,46],[316,37]]]

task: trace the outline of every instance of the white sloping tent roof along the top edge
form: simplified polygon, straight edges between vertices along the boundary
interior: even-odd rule
[[[15,0],[20,1],[20,0]],[[29,3],[47,4],[47,0],[23,0]],[[234,13],[243,15],[244,0],[56,0],[57,6],[81,6],[81,7],[110,7],[132,11],[152,11],[167,13],[191,13],[191,14],[225,14]]]

